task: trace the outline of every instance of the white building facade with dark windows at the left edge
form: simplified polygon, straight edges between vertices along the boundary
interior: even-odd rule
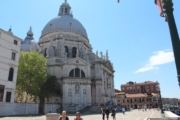
[[[0,102],[15,101],[21,39],[0,29]]]

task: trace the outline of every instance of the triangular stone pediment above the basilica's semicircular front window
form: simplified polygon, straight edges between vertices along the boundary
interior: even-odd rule
[[[85,60],[83,60],[79,57],[71,59],[71,60],[65,62],[64,64],[68,64],[68,65],[90,65],[88,62],[86,62]]]

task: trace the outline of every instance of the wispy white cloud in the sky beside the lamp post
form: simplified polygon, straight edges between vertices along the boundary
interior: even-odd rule
[[[135,73],[146,72],[149,70],[158,69],[159,65],[167,64],[174,61],[174,54],[169,50],[157,51],[149,58],[147,64],[135,71]]]

